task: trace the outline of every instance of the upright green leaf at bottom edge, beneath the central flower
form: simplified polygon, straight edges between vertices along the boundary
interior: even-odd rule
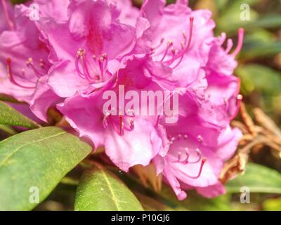
[[[86,169],[77,188],[77,211],[139,211],[141,204],[129,188],[99,165]]]

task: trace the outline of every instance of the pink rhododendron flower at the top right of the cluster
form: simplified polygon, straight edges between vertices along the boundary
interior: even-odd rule
[[[214,21],[209,11],[191,11],[185,1],[164,7],[164,1],[145,1],[141,8],[150,27],[153,60],[173,69],[170,79],[178,86],[194,90],[207,86],[204,71],[214,39]]]

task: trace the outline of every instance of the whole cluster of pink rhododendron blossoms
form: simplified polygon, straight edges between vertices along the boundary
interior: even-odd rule
[[[30,20],[30,4],[39,5],[39,20]],[[165,4],[34,0],[12,7],[1,0],[0,92],[44,121],[57,108],[124,172],[155,165],[179,200],[188,189],[214,197],[225,192],[218,176],[242,136],[230,121],[241,101],[233,70],[243,30],[233,47],[226,34],[214,37],[210,11],[192,11],[187,0]],[[104,112],[103,95],[118,97],[119,86],[139,96],[160,91],[165,101],[178,95],[178,120],[132,108]]]

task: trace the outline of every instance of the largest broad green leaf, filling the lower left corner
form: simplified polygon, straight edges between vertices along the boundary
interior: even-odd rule
[[[32,210],[91,146],[58,127],[25,131],[0,142],[0,210]],[[37,189],[38,188],[38,189]]]

